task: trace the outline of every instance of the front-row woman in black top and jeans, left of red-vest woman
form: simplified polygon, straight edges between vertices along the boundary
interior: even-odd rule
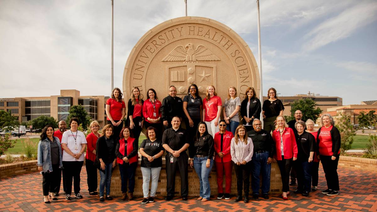
[[[97,140],[97,159],[100,161],[100,201],[104,201],[103,192],[106,186],[106,200],[112,200],[110,196],[110,183],[112,169],[116,164],[115,157],[115,142],[113,140],[113,126],[107,124],[101,132],[101,137]]]

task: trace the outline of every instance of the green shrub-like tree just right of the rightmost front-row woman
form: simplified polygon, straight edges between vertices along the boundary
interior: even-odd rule
[[[353,143],[353,137],[356,135],[356,129],[351,124],[351,116],[344,113],[337,115],[336,127],[340,132],[340,154],[344,154],[345,151],[351,149]]]

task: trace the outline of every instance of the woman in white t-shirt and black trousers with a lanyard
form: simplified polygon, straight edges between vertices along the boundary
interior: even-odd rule
[[[72,178],[74,192],[77,199],[83,198],[80,194],[80,172],[84,164],[86,138],[83,132],[78,131],[78,118],[69,120],[70,130],[63,133],[61,147],[63,148],[63,183],[66,185],[66,200],[70,200],[72,193]]]

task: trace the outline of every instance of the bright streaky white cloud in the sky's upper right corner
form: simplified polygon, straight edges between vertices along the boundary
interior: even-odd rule
[[[305,51],[313,51],[331,42],[349,37],[357,29],[372,23],[377,18],[377,2],[360,2],[330,18],[311,30],[303,45]]]

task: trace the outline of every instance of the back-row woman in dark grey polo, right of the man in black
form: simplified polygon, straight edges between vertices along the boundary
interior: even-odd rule
[[[185,113],[186,131],[189,135],[190,147],[202,117],[202,97],[199,96],[198,86],[192,84],[183,98],[183,112]],[[190,148],[191,149],[191,148]]]

